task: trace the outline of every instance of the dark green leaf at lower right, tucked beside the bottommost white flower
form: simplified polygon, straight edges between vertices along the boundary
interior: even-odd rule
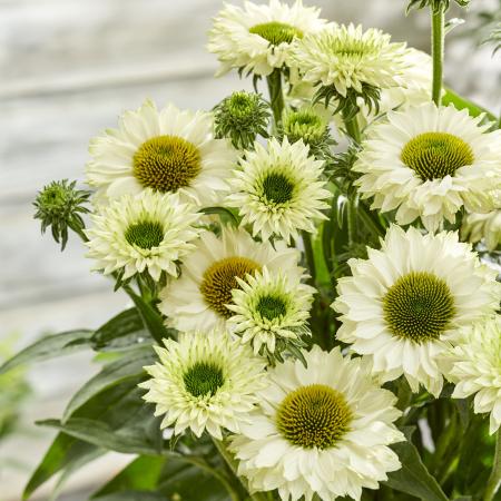
[[[407,432],[406,435],[411,435],[414,430],[409,428],[405,431]],[[439,482],[421,461],[418,449],[410,442],[411,436],[407,436],[407,440],[392,446],[399,454],[402,468],[389,473],[389,480],[384,483],[423,501],[449,501]]]

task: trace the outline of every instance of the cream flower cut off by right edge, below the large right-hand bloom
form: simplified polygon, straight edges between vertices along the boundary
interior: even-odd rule
[[[451,342],[454,347],[448,353],[451,370],[446,376],[455,383],[452,397],[475,394],[475,414],[491,413],[492,434],[501,425],[501,316],[460,330]]]

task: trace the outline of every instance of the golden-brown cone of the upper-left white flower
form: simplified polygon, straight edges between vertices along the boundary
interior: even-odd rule
[[[132,158],[134,175],[145,187],[161,193],[189,186],[200,171],[195,145],[177,136],[158,136],[139,146]]]

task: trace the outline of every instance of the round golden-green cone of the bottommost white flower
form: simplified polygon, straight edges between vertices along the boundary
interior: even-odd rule
[[[282,435],[303,449],[330,449],[348,431],[352,411],[344,396],[324,384],[301,386],[281,403]]]

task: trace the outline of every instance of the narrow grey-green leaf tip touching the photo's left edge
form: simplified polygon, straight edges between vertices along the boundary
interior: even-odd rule
[[[78,330],[52,334],[35,342],[0,366],[0,374],[27,362],[53,358],[89,345],[92,331]]]

